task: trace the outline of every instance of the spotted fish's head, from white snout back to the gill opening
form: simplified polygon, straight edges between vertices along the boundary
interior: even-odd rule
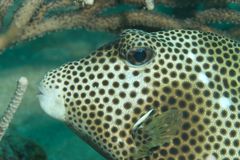
[[[41,107],[93,143],[103,145],[100,148],[119,148],[120,143],[122,149],[129,146],[133,150],[130,129],[143,111],[151,109],[152,94],[157,96],[157,89],[150,89],[159,86],[158,81],[152,85],[151,78],[159,76],[156,38],[126,30],[117,41],[90,56],[50,71],[39,86]]]

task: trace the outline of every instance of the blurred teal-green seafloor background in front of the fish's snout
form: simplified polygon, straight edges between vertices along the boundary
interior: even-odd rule
[[[43,75],[66,62],[79,60],[116,36],[104,32],[74,30],[51,33],[13,46],[0,55],[0,112],[15,90],[16,80],[26,76],[30,85],[8,130],[39,144],[48,160],[104,160],[63,122],[46,115],[37,99]]]

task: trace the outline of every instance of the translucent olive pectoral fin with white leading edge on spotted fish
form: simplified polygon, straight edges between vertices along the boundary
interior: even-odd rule
[[[134,125],[132,135],[138,147],[134,157],[146,157],[151,148],[161,146],[177,134],[181,127],[182,113],[171,109],[162,114],[150,110],[143,115]]]

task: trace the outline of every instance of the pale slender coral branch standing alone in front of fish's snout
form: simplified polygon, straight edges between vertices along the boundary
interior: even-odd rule
[[[6,130],[8,129],[8,126],[9,126],[10,122],[12,121],[15,112],[18,109],[18,107],[22,101],[22,98],[27,89],[27,86],[28,86],[27,78],[21,77],[18,80],[17,88],[14,93],[14,96],[12,97],[12,99],[7,107],[7,110],[4,112],[4,115],[0,119],[0,141],[1,141],[2,137],[4,136]]]

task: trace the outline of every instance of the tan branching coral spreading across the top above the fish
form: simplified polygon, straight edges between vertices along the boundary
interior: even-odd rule
[[[0,1],[1,22],[12,3]],[[72,28],[109,32],[125,28],[150,31],[187,28],[238,38],[240,13],[230,9],[229,3],[239,5],[240,0],[25,0],[8,29],[0,34],[0,50],[48,32]],[[111,14],[111,9],[121,5],[130,5],[131,9]],[[170,7],[171,14],[159,10],[159,6]],[[199,10],[199,6],[203,9]],[[233,27],[220,30],[212,23],[231,23]]]

